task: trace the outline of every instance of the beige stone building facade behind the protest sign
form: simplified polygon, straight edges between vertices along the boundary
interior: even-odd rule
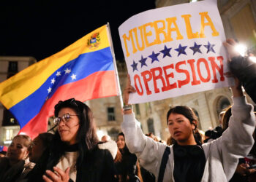
[[[190,0],[191,1],[191,0]],[[188,3],[189,0],[157,0],[156,7],[166,7],[175,4]],[[225,28],[226,37],[233,38],[240,43],[246,44],[250,52],[255,52],[255,31],[256,31],[256,1],[253,0],[218,0],[218,8],[222,17],[222,22]],[[121,90],[124,90],[126,82],[126,67],[124,63],[118,63],[118,74],[121,82]],[[159,138],[167,140],[170,136],[167,130],[166,113],[171,106],[189,106],[193,108],[197,117],[199,118],[198,127],[200,130],[206,131],[209,128],[214,128],[219,125],[219,112],[223,108],[232,104],[231,91],[229,88],[220,88],[216,90],[209,90],[206,92],[197,92],[195,94],[184,95],[176,98],[169,98],[165,100],[158,100],[150,103],[141,103],[134,106],[134,111],[137,119],[140,121],[141,127],[144,133],[154,132]],[[107,100],[112,100],[108,103]],[[116,122],[105,122],[104,114],[106,114],[106,108],[102,108],[99,111],[98,106],[102,103],[102,106],[113,106],[113,100],[115,98],[108,98],[105,100],[91,100],[90,106],[92,106],[95,118],[97,120],[97,126],[104,133],[108,133],[113,128],[116,131],[120,131],[121,111],[120,103],[116,99]],[[249,102],[252,100],[248,98]],[[94,103],[99,102],[99,103]],[[94,109],[97,108],[97,110]],[[99,115],[99,116],[98,116]],[[101,119],[100,117],[103,117]],[[116,127],[115,127],[116,126]],[[111,132],[109,132],[111,133]]]

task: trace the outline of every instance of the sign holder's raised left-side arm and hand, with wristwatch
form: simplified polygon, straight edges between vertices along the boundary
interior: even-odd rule
[[[127,87],[124,90],[125,104],[128,103],[129,93],[131,92],[135,92],[135,89],[131,86],[128,76]],[[129,151],[132,154],[136,154],[138,159],[140,159],[140,165],[154,173],[157,178],[166,145],[156,142],[143,134],[132,109],[123,111],[123,113],[124,121],[121,124],[121,130],[124,132],[125,143]]]

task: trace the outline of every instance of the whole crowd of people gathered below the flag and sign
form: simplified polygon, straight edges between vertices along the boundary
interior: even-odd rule
[[[236,80],[233,105],[220,113],[214,130],[198,130],[192,108],[175,106],[167,112],[165,142],[143,134],[132,106],[125,104],[116,141],[108,135],[99,141],[89,106],[74,98],[59,101],[53,133],[33,141],[27,135],[12,139],[0,157],[0,181],[256,181],[255,107],[241,87],[255,102],[256,64],[238,55],[235,45],[225,42]],[[128,76],[124,103],[132,92]]]

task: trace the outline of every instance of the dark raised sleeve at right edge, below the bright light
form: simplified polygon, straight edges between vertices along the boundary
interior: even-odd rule
[[[239,79],[246,93],[256,103],[256,63],[248,57],[237,56],[232,58],[230,71]]]

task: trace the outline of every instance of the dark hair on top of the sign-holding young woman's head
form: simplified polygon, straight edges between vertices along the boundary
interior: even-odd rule
[[[167,112],[167,124],[170,114],[182,114],[187,119],[189,119],[189,122],[195,125],[195,129],[197,129],[197,116],[195,115],[192,108],[189,108],[188,106],[175,106],[173,108],[170,108],[169,111]],[[195,121],[196,123],[194,123],[193,121]]]

